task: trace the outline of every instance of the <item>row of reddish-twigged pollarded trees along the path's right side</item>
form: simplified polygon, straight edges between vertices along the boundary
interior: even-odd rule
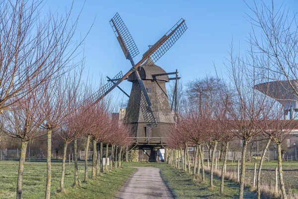
[[[235,72],[235,69],[233,69],[233,71]],[[240,74],[233,76],[235,77],[235,82],[240,79],[241,81],[249,80],[248,77],[245,79],[246,77],[240,77],[239,75]],[[211,82],[214,82],[214,79],[215,78],[207,77],[204,80],[197,80],[197,82],[203,82],[204,84],[202,84],[202,87],[209,87],[209,81],[211,80]],[[258,91],[253,90],[252,87],[245,87],[245,85],[242,83],[240,84],[239,82],[237,82],[235,87],[228,87],[220,80],[217,81],[217,85],[218,83],[221,83],[221,87],[213,87],[213,89],[208,90],[208,92],[204,94],[205,97],[199,97],[197,98],[197,101],[195,100],[197,103],[193,103],[193,99],[188,100],[191,103],[187,102],[187,100],[184,102],[183,112],[180,112],[179,117],[176,120],[176,125],[170,131],[169,135],[167,135],[167,144],[172,149],[172,153],[169,156],[169,162],[178,167],[176,160],[178,157],[181,157],[181,169],[188,173],[192,173],[194,178],[198,178],[200,175],[201,180],[204,182],[203,146],[207,146],[211,160],[210,187],[213,187],[215,152],[218,144],[224,143],[225,150],[223,152],[224,161],[222,165],[220,189],[220,192],[224,193],[224,168],[226,167],[229,143],[232,140],[240,139],[243,144],[239,180],[239,198],[243,198],[247,146],[260,136],[262,139],[267,140],[267,143],[258,169],[258,198],[260,198],[262,164],[269,144],[272,141],[278,148],[280,187],[283,197],[285,198],[286,193],[282,172],[281,144],[287,138],[289,133],[294,128],[298,127],[296,121],[293,119],[285,120],[283,106],[278,104],[279,102],[261,95]],[[200,91],[202,91],[202,89]],[[202,95],[202,92],[198,92],[198,95]],[[192,97],[193,96],[190,98]],[[188,152],[189,146],[196,148],[193,165],[190,161]],[[201,169],[202,172],[200,174]]]

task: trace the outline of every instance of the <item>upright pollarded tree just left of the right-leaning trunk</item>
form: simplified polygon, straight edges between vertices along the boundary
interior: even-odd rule
[[[253,50],[250,49],[252,52]],[[254,54],[246,57],[235,56],[231,47],[229,64],[226,65],[231,81],[231,99],[225,103],[226,110],[230,115],[230,127],[236,137],[242,140],[241,173],[239,183],[239,199],[243,199],[245,180],[245,157],[247,145],[252,138],[261,133],[258,124],[262,117],[262,109],[265,107],[266,97],[261,96],[253,89],[254,85],[260,83],[262,70],[255,67],[260,64]]]

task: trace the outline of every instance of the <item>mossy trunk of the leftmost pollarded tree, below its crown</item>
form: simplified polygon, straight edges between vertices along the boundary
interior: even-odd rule
[[[24,164],[26,158],[26,150],[27,150],[28,141],[23,141],[21,143],[21,151],[20,151],[20,161],[19,161],[19,170],[17,174],[17,184],[16,184],[16,199],[22,199],[22,183],[23,183],[23,174],[24,174]]]

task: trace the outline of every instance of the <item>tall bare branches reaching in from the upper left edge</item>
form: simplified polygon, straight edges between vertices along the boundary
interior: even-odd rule
[[[5,10],[0,15],[1,110],[66,67],[81,44],[71,43],[77,20],[69,25],[70,12],[65,18],[53,13],[43,17],[41,6],[41,1],[0,0],[0,10]]]

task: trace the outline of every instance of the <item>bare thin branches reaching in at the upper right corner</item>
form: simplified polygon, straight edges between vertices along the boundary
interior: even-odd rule
[[[276,6],[273,0],[268,4],[254,1],[252,5],[246,5],[251,11],[247,13],[252,25],[249,44],[255,56],[268,60],[268,64],[258,67],[266,71],[269,81],[287,81],[298,97],[297,14],[290,14],[290,9],[284,4]]]

